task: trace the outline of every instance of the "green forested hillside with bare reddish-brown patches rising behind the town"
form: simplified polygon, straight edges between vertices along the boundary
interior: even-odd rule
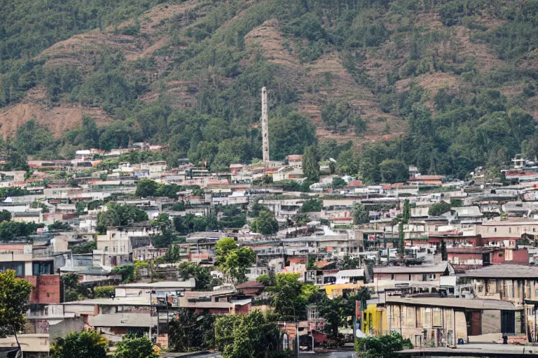
[[[272,159],[495,173],[538,151],[537,44],[538,0],[6,0],[0,133],[17,157],[144,140],[219,170],[261,157],[266,86]]]

